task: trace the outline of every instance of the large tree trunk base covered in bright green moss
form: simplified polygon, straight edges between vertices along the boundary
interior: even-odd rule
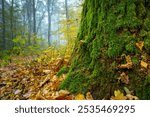
[[[141,51],[136,47],[144,42]],[[127,87],[140,99],[150,99],[150,71],[140,61],[150,61],[149,0],[85,0],[71,67],[61,88],[72,93],[92,92],[95,99],[110,99],[114,90]],[[130,55],[132,69],[117,69]],[[119,83],[122,72],[129,84]]]

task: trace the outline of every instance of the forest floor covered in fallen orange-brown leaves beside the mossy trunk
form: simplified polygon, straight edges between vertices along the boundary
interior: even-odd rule
[[[0,68],[1,100],[74,100],[93,99],[87,96],[72,95],[60,90],[60,83],[66,74],[57,76],[62,66],[69,67],[69,56],[48,59],[41,54],[38,57],[15,57],[11,63]]]

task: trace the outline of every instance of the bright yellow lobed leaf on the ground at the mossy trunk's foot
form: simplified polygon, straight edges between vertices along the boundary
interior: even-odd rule
[[[112,97],[111,97],[112,100],[126,100],[126,99],[127,99],[127,97],[124,96],[124,94],[121,93],[120,90],[115,90],[115,91],[114,91],[114,95],[115,95],[115,96],[112,96]]]

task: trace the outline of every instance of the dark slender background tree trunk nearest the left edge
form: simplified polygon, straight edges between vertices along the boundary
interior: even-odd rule
[[[3,39],[3,49],[6,49],[6,39],[5,39],[5,0],[2,0],[2,22],[3,22],[3,27],[2,27],[2,39]]]

